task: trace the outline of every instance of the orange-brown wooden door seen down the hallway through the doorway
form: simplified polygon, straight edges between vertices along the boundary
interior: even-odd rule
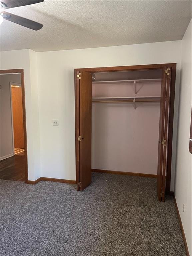
[[[24,148],[23,105],[21,87],[11,87],[14,146]]]

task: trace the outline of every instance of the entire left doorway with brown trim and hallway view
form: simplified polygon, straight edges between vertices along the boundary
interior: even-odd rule
[[[28,181],[23,69],[0,70],[0,179]]]

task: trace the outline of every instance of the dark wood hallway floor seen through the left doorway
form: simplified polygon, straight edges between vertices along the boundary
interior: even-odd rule
[[[25,153],[0,161],[0,179],[25,181]]]

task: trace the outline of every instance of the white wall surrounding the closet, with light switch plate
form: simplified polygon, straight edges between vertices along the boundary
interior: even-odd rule
[[[74,68],[177,63],[173,190],[180,55],[181,41],[37,53],[41,176],[75,180]]]

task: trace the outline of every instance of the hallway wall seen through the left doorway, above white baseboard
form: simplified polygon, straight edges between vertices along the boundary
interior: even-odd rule
[[[21,75],[0,75],[0,159],[13,156],[10,82],[21,83]]]

